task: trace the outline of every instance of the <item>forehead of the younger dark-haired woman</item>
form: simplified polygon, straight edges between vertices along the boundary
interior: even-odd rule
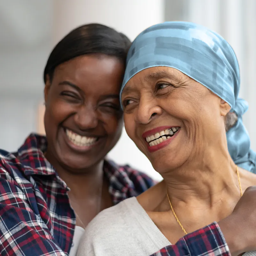
[[[84,91],[119,92],[124,64],[116,57],[87,54],[56,67],[53,82],[69,81]]]

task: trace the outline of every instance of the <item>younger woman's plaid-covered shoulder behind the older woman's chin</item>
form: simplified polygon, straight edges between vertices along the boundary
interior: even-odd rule
[[[148,188],[156,184],[151,177],[147,174],[140,172],[128,164],[118,165],[112,160],[105,161],[109,169],[112,169],[112,179],[115,178],[121,182],[124,182],[126,187],[133,188],[136,192],[133,196],[137,196]]]

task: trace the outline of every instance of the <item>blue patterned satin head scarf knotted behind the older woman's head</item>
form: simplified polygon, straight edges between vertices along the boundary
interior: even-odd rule
[[[228,151],[234,162],[256,172],[256,153],[242,122],[246,101],[237,98],[240,88],[236,54],[217,33],[191,22],[170,21],[147,28],[133,41],[128,52],[125,84],[143,69],[176,68],[225,100],[238,116],[227,134]]]

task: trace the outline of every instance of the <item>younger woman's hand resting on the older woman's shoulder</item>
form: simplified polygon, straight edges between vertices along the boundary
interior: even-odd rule
[[[233,213],[218,224],[232,256],[255,251],[256,187],[247,188]]]

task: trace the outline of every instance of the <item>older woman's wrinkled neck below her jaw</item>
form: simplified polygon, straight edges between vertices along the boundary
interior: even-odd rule
[[[228,152],[209,148],[199,156],[201,161],[194,158],[163,174],[163,185],[171,200],[193,207],[212,207],[227,197],[239,198],[236,166]]]

